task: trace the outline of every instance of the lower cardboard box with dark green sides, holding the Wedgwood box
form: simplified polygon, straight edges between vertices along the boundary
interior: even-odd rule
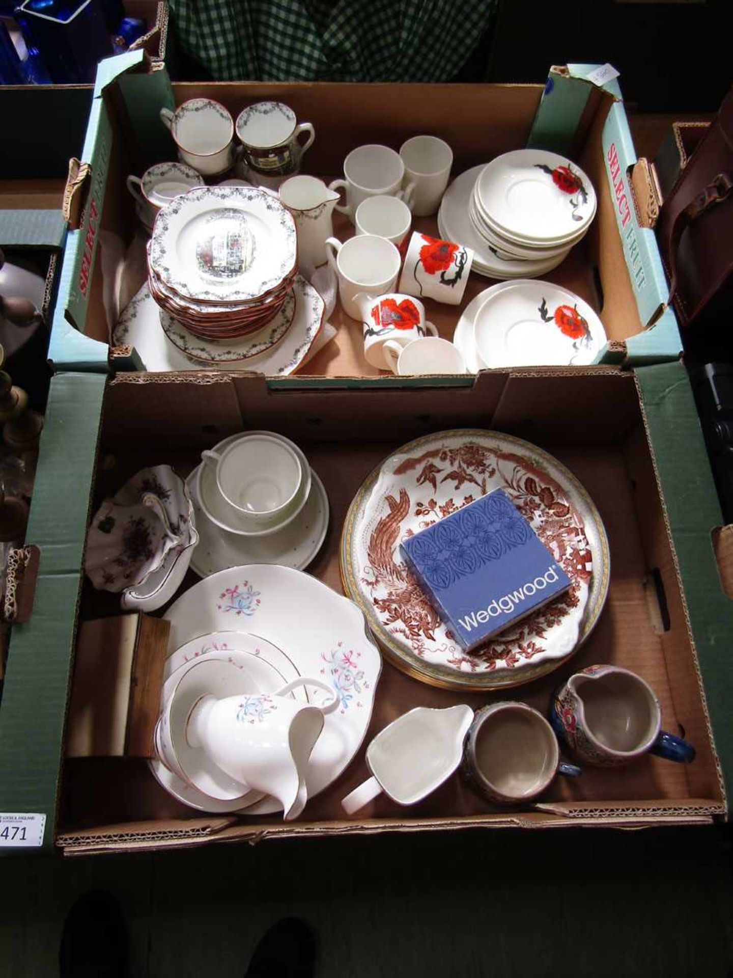
[[[588,769],[573,783],[559,779],[526,811],[497,812],[455,777],[414,808],[382,797],[358,819],[345,820],[338,803],[367,777],[365,741],[344,774],[288,824],[278,817],[195,813],[162,791],[140,759],[62,763],[79,609],[83,619],[93,619],[104,603],[81,569],[90,511],[128,470],[154,461],[186,471],[201,449],[245,426],[292,437],[322,476],[331,519],[310,572],[337,591],[339,537],[354,493],[390,451],[430,430],[481,426],[537,443],[576,473],[604,519],[608,603],[570,663],[526,687],[466,696],[418,683],[385,662],[367,741],[418,704],[477,707],[509,695],[544,710],[571,672],[610,661],[650,681],[665,728],[683,729],[695,743],[695,763],[647,757],[622,770]],[[110,456],[114,467],[101,467]],[[733,640],[733,622],[711,549],[718,522],[679,364],[635,374],[612,367],[493,372],[463,389],[410,391],[273,390],[264,378],[240,374],[57,376],[28,527],[28,539],[41,549],[34,610],[14,632],[0,710],[0,812],[45,816],[43,845],[65,854],[289,835],[722,819],[725,784],[733,777],[733,727],[719,649]],[[194,580],[190,572],[184,588]]]

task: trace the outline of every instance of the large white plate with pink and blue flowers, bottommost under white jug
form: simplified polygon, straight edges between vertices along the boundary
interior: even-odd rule
[[[246,564],[213,574],[183,594],[165,613],[169,649],[202,632],[236,629],[261,636],[292,659],[301,676],[322,679],[341,705],[325,718],[308,766],[311,798],[341,774],[365,734],[381,671],[381,655],[357,605],[310,574],[277,564]],[[312,702],[327,697],[316,689]],[[265,799],[247,815],[279,811]]]

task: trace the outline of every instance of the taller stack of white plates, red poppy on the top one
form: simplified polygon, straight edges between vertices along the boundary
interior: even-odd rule
[[[480,274],[530,279],[560,264],[595,209],[593,187],[575,163],[544,150],[516,150],[457,177],[438,227],[444,238],[474,249]]]

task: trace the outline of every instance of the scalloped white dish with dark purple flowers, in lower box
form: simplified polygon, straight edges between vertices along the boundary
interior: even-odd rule
[[[86,572],[122,607],[153,611],[180,586],[198,542],[194,505],[170,466],[143,468],[105,500],[87,535]]]

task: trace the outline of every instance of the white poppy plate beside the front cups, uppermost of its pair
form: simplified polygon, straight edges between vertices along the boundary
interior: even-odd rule
[[[486,295],[473,321],[482,367],[580,367],[606,342],[603,323],[580,295],[520,279]]]

